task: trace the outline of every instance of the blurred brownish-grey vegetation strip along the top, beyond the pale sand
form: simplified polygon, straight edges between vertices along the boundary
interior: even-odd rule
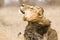
[[[29,5],[37,5],[37,6],[54,6],[54,5],[60,5],[60,0],[0,0],[0,6],[5,5],[5,1],[7,1],[7,5],[12,6],[20,6],[21,4],[29,4]],[[9,3],[10,1],[10,3]]]

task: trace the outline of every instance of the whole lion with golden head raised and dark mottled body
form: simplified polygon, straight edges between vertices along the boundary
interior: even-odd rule
[[[23,20],[28,22],[24,32],[25,40],[58,40],[51,21],[44,16],[42,7],[23,4],[20,6]]]

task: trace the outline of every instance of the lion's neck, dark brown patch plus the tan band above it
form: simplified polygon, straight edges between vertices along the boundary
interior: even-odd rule
[[[48,29],[50,27],[50,21],[47,21],[47,20],[40,21],[39,20],[37,22],[28,22],[28,25],[30,25],[33,29],[35,28],[37,33],[43,35],[48,31]]]

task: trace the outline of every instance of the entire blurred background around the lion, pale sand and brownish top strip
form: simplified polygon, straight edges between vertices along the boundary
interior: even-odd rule
[[[23,34],[27,25],[22,19],[23,14],[19,12],[21,4],[42,7],[60,40],[60,0],[0,0],[0,40],[21,40],[17,35],[19,32]]]

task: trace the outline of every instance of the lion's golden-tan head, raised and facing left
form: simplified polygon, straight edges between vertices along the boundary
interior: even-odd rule
[[[43,17],[44,10],[38,6],[31,6],[31,5],[21,5],[20,11],[24,14],[23,19],[25,21],[35,22],[38,21],[38,18]]]

